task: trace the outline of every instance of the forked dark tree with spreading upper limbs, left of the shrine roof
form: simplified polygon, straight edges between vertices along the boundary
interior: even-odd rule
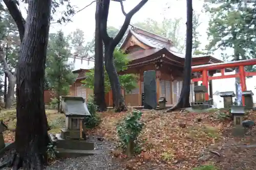
[[[148,0],[142,0],[137,6],[135,6],[129,13],[125,13],[122,1],[116,0],[120,2],[121,9],[123,14],[125,15],[125,20],[121,29],[119,30],[116,37],[113,39],[108,35],[107,32],[107,22],[109,15],[109,6],[110,0],[105,0],[101,4],[101,14],[100,14],[100,34],[102,36],[102,40],[104,42],[104,64],[106,68],[106,72],[108,72],[110,84],[113,92],[113,100],[114,100],[114,108],[116,112],[125,111],[125,103],[121,93],[121,85],[119,82],[118,74],[114,65],[113,53],[117,44],[121,41],[123,35],[128,29],[131,19],[133,15],[138,12]]]

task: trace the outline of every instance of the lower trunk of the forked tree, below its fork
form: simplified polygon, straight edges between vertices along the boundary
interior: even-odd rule
[[[110,51],[109,51],[110,50]],[[113,105],[116,112],[126,111],[123,95],[121,93],[121,85],[119,83],[118,74],[113,61],[113,52],[109,45],[105,44],[104,63],[106,72],[108,72],[110,84],[113,92]]]

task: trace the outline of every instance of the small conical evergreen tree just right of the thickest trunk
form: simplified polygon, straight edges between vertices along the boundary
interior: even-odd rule
[[[59,110],[59,96],[67,95],[69,85],[75,80],[75,75],[72,73],[73,65],[68,62],[69,44],[61,31],[50,34],[47,54],[46,81],[56,93]]]

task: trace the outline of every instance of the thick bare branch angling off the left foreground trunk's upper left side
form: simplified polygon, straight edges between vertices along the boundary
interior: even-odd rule
[[[6,7],[8,8],[12,18],[16,22],[19,32],[20,41],[23,40],[25,33],[25,24],[26,20],[23,18],[22,13],[19,11],[15,1],[12,0],[4,0]]]

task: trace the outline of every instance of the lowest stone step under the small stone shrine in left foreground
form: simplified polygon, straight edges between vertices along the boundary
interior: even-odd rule
[[[67,150],[58,148],[56,156],[58,158],[75,158],[99,154],[100,152],[100,150]]]

